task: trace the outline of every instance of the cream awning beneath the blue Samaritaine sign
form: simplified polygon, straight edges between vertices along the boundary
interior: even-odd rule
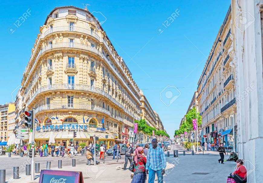
[[[109,133],[101,133],[101,132],[83,132],[83,131],[76,131],[77,136],[74,139],[90,139],[90,136],[98,136],[99,139],[106,139],[106,135],[108,135],[107,139],[114,140],[114,136]],[[49,139],[50,131],[44,132],[36,132],[35,133],[35,140],[38,139]],[[73,131],[53,131],[54,139],[72,139],[73,138]]]

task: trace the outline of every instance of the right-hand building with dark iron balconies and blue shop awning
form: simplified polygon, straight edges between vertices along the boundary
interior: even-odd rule
[[[198,81],[197,101],[202,116],[202,141],[235,147],[235,67],[229,56],[233,45],[231,18],[229,7]]]

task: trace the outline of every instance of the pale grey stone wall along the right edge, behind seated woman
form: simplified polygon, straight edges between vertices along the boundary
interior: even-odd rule
[[[263,1],[231,1],[231,56],[236,66],[239,158],[245,160],[247,182],[262,182],[263,144]],[[247,20],[240,23],[239,20]]]

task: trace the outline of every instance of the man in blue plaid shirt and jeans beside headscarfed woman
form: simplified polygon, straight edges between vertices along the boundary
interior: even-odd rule
[[[164,150],[158,146],[157,139],[151,141],[152,147],[147,153],[146,173],[149,174],[148,183],[154,183],[155,173],[158,183],[163,183],[163,175],[165,173],[166,159]]]

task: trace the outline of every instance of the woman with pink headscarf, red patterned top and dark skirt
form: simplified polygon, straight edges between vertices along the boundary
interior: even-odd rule
[[[135,166],[131,183],[145,183],[146,180],[146,157],[143,154],[143,147],[137,147],[134,154]]]

